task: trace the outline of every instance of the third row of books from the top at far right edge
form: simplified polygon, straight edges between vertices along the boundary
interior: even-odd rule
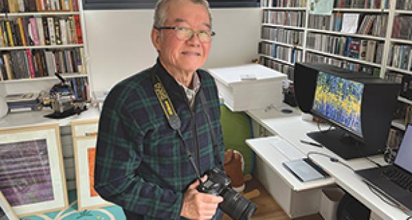
[[[398,69],[412,71],[411,45],[392,45],[389,50],[388,64]]]

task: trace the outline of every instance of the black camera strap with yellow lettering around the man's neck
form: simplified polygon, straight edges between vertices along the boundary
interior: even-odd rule
[[[194,162],[192,153],[190,152],[189,147],[187,146],[183,135],[181,133],[181,120],[179,118],[179,115],[176,113],[176,109],[174,109],[172,101],[170,100],[170,97],[168,95],[168,92],[166,91],[165,87],[163,86],[163,83],[161,83],[161,80],[157,74],[153,73],[152,74],[152,83],[153,87],[155,90],[155,94],[157,96],[157,99],[159,100],[159,103],[161,105],[161,108],[163,109],[163,113],[165,113],[166,119],[168,120],[168,123],[170,127],[174,130],[177,131],[177,134],[179,135],[180,139],[183,142],[183,145],[185,146],[187,158],[190,161],[190,164],[192,164],[196,175],[198,175],[198,178],[200,179],[201,173],[199,172],[198,166],[196,166],[196,163]],[[199,95],[201,96],[201,102],[203,105],[203,112],[206,115],[207,118],[207,124],[209,124],[209,129],[211,131],[211,140],[212,140],[212,145],[214,148],[214,157],[215,159],[218,158],[218,164],[222,164],[221,159],[218,154],[218,144],[217,144],[217,139],[216,139],[216,133],[213,130],[213,127],[211,126],[211,120],[209,113],[205,110],[204,104],[206,103],[206,98],[205,94],[203,94],[202,89],[199,89],[198,91]],[[209,108],[208,108],[209,109]],[[196,145],[198,148],[198,146]]]

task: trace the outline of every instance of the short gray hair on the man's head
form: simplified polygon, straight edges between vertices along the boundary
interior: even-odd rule
[[[153,27],[161,27],[165,24],[168,18],[168,5],[169,3],[179,0],[159,0],[155,7],[155,17],[153,18]],[[209,10],[209,3],[206,0],[190,0],[192,3],[203,5],[209,13],[209,22],[211,27],[211,14]]]

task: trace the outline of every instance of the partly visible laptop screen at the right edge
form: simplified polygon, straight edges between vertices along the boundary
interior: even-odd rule
[[[395,164],[412,173],[412,125],[407,126],[402,143],[396,155]]]

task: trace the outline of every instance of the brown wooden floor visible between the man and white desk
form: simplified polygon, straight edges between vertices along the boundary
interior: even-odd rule
[[[247,189],[245,191],[248,192],[254,188],[260,190],[260,196],[251,199],[251,201],[258,206],[258,210],[256,210],[255,214],[253,214],[253,220],[290,219],[284,210],[282,210],[282,208],[280,208],[276,201],[271,197],[271,195],[269,195],[269,193],[263,188],[262,184],[255,179],[251,179],[251,181],[247,182]],[[230,217],[225,214],[222,220],[230,220]],[[313,214],[307,217],[297,218],[297,220],[323,220],[323,218],[319,214]]]

